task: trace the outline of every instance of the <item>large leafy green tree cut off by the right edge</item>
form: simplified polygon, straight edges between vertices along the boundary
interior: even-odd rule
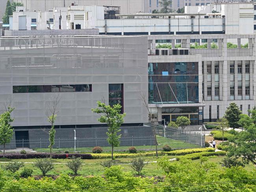
[[[228,157],[242,157],[242,161],[245,164],[256,165],[256,125],[252,124],[247,127],[246,131],[238,133],[236,137],[230,141],[233,142],[228,148]]]

